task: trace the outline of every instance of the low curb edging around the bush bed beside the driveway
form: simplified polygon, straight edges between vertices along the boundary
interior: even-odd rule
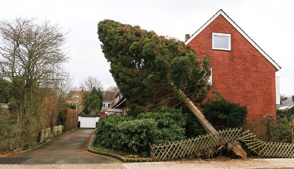
[[[119,160],[122,160],[123,162],[134,162],[134,161],[135,162],[149,162],[149,161],[152,161],[152,158],[125,158],[125,157],[120,156],[118,154],[112,154],[112,153],[108,153],[108,152],[97,151],[97,150],[91,149],[91,143],[92,143],[94,136],[95,136],[95,130],[93,131],[92,137],[89,140],[89,146],[87,149],[89,152],[92,152],[95,154],[100,154],[100,155],[111,156],[111,157],[117,158]]]

